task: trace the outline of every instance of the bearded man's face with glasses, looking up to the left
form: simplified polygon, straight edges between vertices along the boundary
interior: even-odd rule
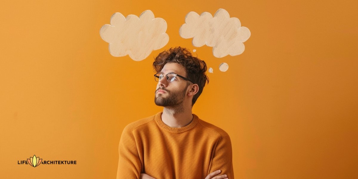
[[[184,101],[188,83],[180,77],[175,77],[174,81],[168,82],[165,75],[170,72],[187,77],[185,69],[180,64],[166,63],[160,71],[164,77],[159,80],[155,91],[154,102],[158,106],[176,107]]]

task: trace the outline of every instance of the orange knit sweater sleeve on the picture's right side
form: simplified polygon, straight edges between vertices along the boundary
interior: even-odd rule
[[[222,137],[215,147],[209,173],[212,173],[216,170],[221,170],[219,175],[226,174],[228,179],[234,179],[231,140],[228,135]]]

